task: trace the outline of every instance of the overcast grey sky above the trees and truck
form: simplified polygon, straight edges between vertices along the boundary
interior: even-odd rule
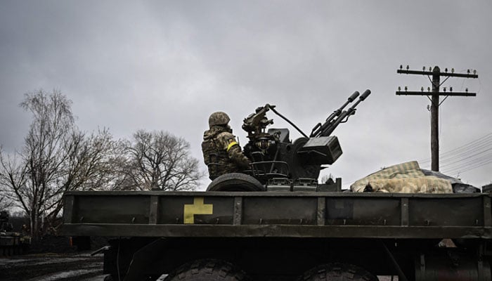
[[[277,105],[309,133],[351,93],[370,89],[334,132],[344,154],[323,170],[347,186],[382,166],[430,157],[429,100],[395,95],[398,86],[427,89],[429,79],[396,74],[399,65],[477,70],[479,79],[443,85],[477,96],[439,107],[441,152],[487,140],[491,13],[489,0],[0,0],[0,144],[8,152],[22,147],[31,116],[18,104],[37,89],[70,98],[84,131],[107,127],[115,138],[169,131],[186,138],[200,162],[214,111],[228,112],[244,145],[242,119],[260,105]],[[490,151],[474,152],[481,158],[463,159],[463,170],[492,161]],[[452,170],[476,186],[492,181],[492,163]]]

